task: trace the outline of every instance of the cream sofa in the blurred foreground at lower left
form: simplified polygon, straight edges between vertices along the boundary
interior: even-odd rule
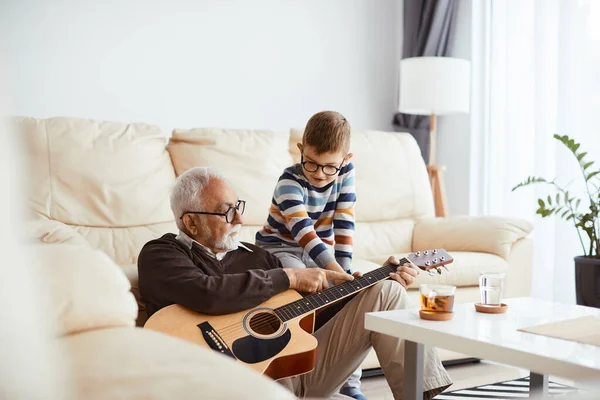
[[[56,337],[61,399],[295,399],[228,357],[135,327],[129,281],[101,251],[77,243],[26,250],[33,265],[20,267],[36,268],[46,289],[38,311]]]

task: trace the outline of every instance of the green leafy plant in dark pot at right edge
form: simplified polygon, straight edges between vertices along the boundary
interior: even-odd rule
[[[587,152],[579,152],[579,143],[568,136],[554,135],[554,138],[564,144],[575,156],[586,190],[585,201],[571,196],[567,187],[560,186],[555,180],[546,180],[538,176],[529,176],[526,180],[515,186],[515,191],[524,186],[545,184],[552,187],[553,194],[547,198],[538,199],[536,214],[542,218],[558,216],[567,221],[572,221],[581,243],[583,255],[575,257],[575,290],[577,304],[600,307],[600,171],[592,168],[593,161],[587,161]],[[580,210],[580,206],[583,207]],[[588,205],[589,203],[589,205]],[[587,236],[584,243],[582,234]]]

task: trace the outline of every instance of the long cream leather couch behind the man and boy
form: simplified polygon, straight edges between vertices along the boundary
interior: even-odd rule
[[[28,234],[44,243],[76,243],[106,253],[137,296],[137,256],[149,240],[176,227],[169,208],[178,174],[197,165],[221,169],[247,201],[243,240],[253,242],[272,190],[298,162],[301,131],[192,129],[164,132],[148,124],[76,118],[17,118],[32,187]],[[506,272],[505,296],[526,296],[531,282],[530,223],[508,218],[435,218],[427,171],[406,133],[352,132],[356,167],[353,268],[367,271],[389,255],[445,248],[455,262],[441,276],[421,274],[413,285],[458,287],[457,301],[478,299],[482,271]],[[417,291],[409,294],[417,301]],[[138,324],[144,321],[140,304]],[[461,355],[442,351],[442,359]],[[371,354],[363,368],[377,367]]]

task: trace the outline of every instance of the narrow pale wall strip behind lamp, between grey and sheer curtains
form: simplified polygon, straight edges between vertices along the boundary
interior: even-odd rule
[[[472,0],[458,2],[456,28],[449,38],[449,56],[471,60]],[[471,107],[473,111],[473,107]],[[457,114],[439,117],[438,164],[446,166],[448,208],[452,215],[470,214],[471,116]]]

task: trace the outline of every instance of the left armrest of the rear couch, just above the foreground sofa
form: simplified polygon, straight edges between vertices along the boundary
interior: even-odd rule
[[[75,229],[53,219],[26,221],[25,238],[28,241],[39,243],[90,245]]]

